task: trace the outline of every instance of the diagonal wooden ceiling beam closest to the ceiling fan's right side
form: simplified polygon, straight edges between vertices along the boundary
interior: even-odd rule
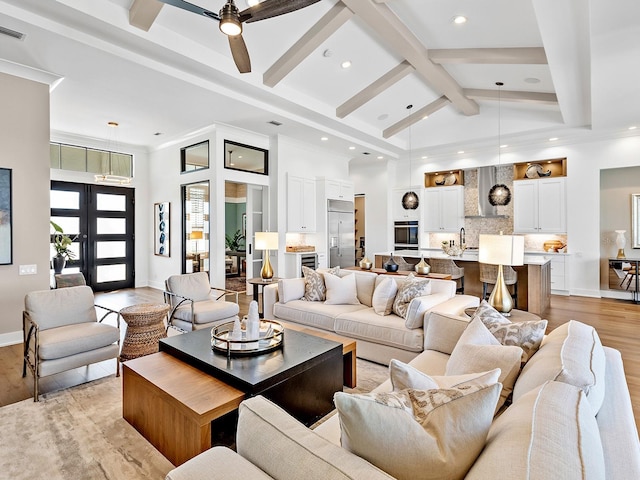
[[[275,87],[351,17],[353,17],[353,12],[343,3],[335,4],[300,40],[269,67],[262,77],[262,82],[268,87]]]

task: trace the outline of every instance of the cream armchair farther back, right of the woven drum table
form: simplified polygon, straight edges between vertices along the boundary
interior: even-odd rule
[[[171,306],[168,326],[192,331],[235,320],[240,307],[238,292],[212,288],[206,272],[172,275],[165,282],[165,303]],[[235,295],[235,303],[225,300]]]

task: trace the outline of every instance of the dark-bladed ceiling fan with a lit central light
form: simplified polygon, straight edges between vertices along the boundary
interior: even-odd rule
[[[285,13],[294,12],[301,8],[313,5],[320,0],[264,0],[246,10],[239,11],[233,0],[220,9],[219,13],[212,12],[184,0],[160,0],[162,3],[182,8],[189,12],[204,15],[220,22],[220,31],[229,37],[229,47],[233,61],[240,73],[251,71],[251,59],[247,51],[247,45],[242,38],[242,24],[265,20]]]

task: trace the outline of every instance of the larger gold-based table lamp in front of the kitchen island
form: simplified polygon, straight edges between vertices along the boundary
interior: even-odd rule
[[[498,278],[489,296],[489,305],[505,317],[511,315],[513,298],[504,283],[503,265],[524,264],[524,237],[517,235],[480,235],[478,262],[498,265]]]

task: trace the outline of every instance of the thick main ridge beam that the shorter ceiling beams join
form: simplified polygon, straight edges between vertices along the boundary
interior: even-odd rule
[[[465,115],[477,115],[478,104],[465,97],[462,87],[440,65],[429,60],[429,52],[398,16],[385,4],[363,0],[342,0],[358,18],[364,21],[398,55],[405,58],[427,84],[446,95]]]

